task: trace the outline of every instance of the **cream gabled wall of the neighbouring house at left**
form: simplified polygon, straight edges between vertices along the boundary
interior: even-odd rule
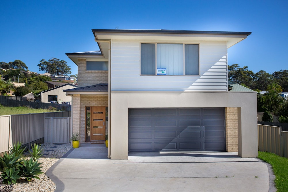
[[[77,87],[72,86],[72,85],[65,85],[65,86],[60,87],[58,89],[51,89],[50,91],[48,90],[47,92],[42,93],[41,102],[42,103],[48,103],[48,95],[57,95],[58,100],[61,99],[64,102],[67,102],[67,101],[71,102],[72,98],[70,96],[66,96],[66,92],[64,92],[63,90],[74,89],[74,88],[77,88]]]

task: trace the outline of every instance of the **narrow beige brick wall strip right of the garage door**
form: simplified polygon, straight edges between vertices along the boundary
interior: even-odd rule
[[[237,107],[225,108],[226,120],[226,151],[238,151],[238,117]]]

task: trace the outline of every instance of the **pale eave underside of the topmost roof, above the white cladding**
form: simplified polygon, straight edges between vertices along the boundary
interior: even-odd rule
[[[141,39],[149,41],[226,41],[227,47],[247,38],[247,35],[211,34],[159,34],[159,33],[104,33],[95,32],[96,39]]]

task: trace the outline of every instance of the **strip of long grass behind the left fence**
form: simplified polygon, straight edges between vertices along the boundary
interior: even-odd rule
[[[30,107],[4,107],[0,105],[0,115],[17,115],[17,114],[28,114],[28,113],[48,113],[56,110],[49,109],[33,109]]]

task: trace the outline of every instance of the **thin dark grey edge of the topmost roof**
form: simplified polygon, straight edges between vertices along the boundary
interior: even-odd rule
[[[92,29],[95,33],[166,33],[166,34],[206,34],[206,35],[251,35],[252,32],[235,32],[235,31],[189,31],[189,30],[131,30],[131,29]]]

